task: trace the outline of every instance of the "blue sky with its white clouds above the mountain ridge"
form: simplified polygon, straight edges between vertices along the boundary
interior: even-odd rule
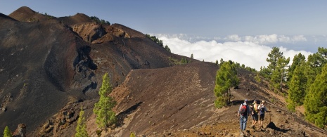
[[[278,46],[284,54],[315,53],[319,46],[327,47],[327,1],[40,1],[0,0],[0,13],[6,15],[20,6],[56,17],[85,13],[111,23],[120,23],[144,34],[153,34],[172,48],[173,53],[189,56],[198,53],[199,60],[243,61],[235,56],[219,56],[222,48],[271,49]],[[179,43],[182,42],[182,43]],[[250,44],[249,44],[250,43]],[[199,50],[207,48],[209,51]],[[193,48],[190,48],[194,46]],[[222,46],[222,47],[220,47]],[[217,47],[220,47],[219,49]],[[212,50],[217,48],[217,51]],[[226,49],[227,50],[227,49]],[[241,50],[245,51],[245,50]],[[239,52],[241,52],[239,51]],[[293,52],[294,51],[294,52]],[[210,55],[207,56],[210,52]],[[250,51],[249,51],[250,52]],[[269,50],[263,52],[264,63]],[[236,53],[240,54],[240,53]],[[294,56],[290,54],[290,58]],[[194,55],[195,58],[197,55]],[[250,63],[249,63],[250,64]]]

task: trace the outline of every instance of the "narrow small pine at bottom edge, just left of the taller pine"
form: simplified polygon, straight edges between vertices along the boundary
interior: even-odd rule
[[[85,122],[85,117],[84,117],[84,110],[79,112],[79,117],[77,120],[77,127],[76,127],[76,133],[75,137],[87,137],[89,136],[86,131],[86,122]]]

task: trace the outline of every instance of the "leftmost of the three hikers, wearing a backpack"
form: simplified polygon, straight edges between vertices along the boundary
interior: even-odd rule
[[[247,99],[244,100],[244,103],[241,104],[240,108],[238,108],[238,117],[240,117],[240,126],[241,126],[241,133],[244,133],[245,128],[246,128],[246,122],[248,122],[248,115],[251,115],[250,113],[250,108],[248,104]]]

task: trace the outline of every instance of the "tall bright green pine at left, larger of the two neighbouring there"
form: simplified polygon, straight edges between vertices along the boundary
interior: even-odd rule
[[[109,83],[110,79],[108,73],[103,75],[102,86],[98,94],[100,95],[100,100],[95,103],[94,114],[96,114],[96,124],[98,128],[108,129],[109,126],[115,124],[116,119],[113,117],[115,112],[113,112],[113,107],[115,107],[116,102],[113,98],[109,96],[112,91],[112,87]]]

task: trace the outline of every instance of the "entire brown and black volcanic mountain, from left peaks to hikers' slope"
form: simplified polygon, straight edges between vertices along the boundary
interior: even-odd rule
[[[73,136],[83,107],[90,136],[102,76],[117,101],[117,127],[101,136],[237,136],[242,100],[267,100],[265,131],[251,136],[323,136],[283,97],[238,69],[241,84],[230,107],[214,107],[219,66],[170,53],[145,34],[94,22],[82,13],[56,18],[21,7],[0,13],[0,129],[26,124],[27,136]],[[191,63],[179,65],[187,58]],[[3,130],[1,130],[3,131]]]

